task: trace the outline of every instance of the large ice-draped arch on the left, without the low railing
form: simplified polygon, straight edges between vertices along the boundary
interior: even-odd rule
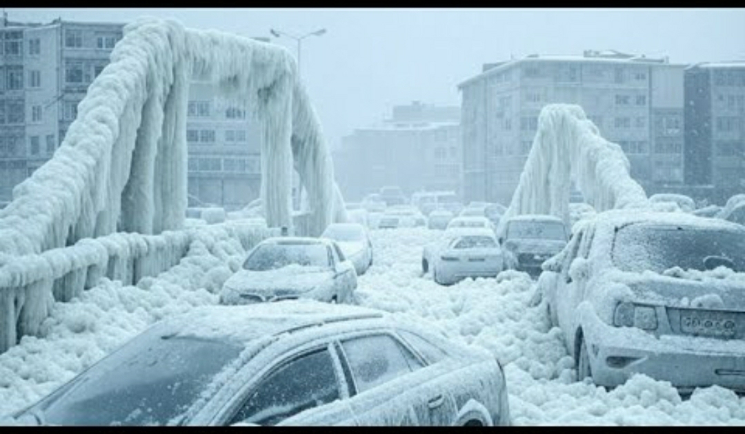
[[[292,226],[293,167],[314,207],[311,232],[344,220],[332,159],[291,54],[145,18],[124,28],[59,150],[0,211],[0,252],[33,254],[117,231],[182,228],[193,73],[259,118],[261,197],[270,226]]]

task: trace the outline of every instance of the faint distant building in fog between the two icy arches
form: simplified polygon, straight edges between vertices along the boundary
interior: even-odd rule
[[[460,191],[460,108],[419,101],[394,106],[382,124],[342,138],[334,154],[335,176],[348,201],[384,185],[405,194]]]

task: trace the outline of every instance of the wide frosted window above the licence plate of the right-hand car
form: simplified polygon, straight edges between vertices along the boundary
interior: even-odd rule
[[[719,259],[719,264],[722,259],[731,261],[735,271],[742,271],[743,252],[745,233],[741,231],[637,223],[618,229],[612,258],[616,267],[631,272],[663,272],[673,267],[705,270],[710,257]]]

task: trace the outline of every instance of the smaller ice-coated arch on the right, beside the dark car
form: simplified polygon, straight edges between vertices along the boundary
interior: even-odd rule
[[[603,138],[582,107],[548,104],[538,118],[533,146],[512,202],[501,219],[520,214],[551,214],[569,223],[571,182],[595,209],[646,208],[644,188],[629,173],[618,144]]]

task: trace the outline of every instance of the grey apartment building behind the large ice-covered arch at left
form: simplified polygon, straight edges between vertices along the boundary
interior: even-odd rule
[[[123,28],[0,18],[0,201],[10,201],[13,187],[60,146]],[[259,197],[260,135],[245,108],[215,98],[214,90],[200,80],[190,88],[189,205],[235,209]]]

